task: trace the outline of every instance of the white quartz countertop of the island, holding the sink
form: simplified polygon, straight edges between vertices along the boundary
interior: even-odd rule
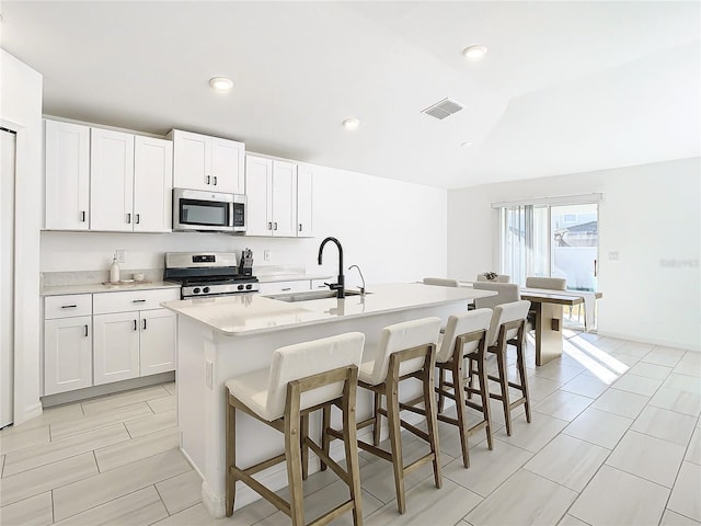
[[[492,290],[436,287],[420,283],[368,286],[365,296],[286,302],[257,294],[165,301],[163,307],[220,333],[244,336],[354,317],[440,306],[494,296]]]

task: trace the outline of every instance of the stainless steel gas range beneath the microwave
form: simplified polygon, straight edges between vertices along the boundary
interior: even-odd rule
[[[163,279],[180,282],[183,299],[254,293],[258,279],[251,274],[252,264],[248,249],[240,264],[233,252],[168,252]]]

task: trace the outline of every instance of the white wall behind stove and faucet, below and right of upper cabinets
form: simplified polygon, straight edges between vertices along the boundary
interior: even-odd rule
[[[357,264],[368,283],[418,281],[446,273],[447,192],[358,172],[319,167],[314,175],[312,239],[245,238],[221,233],[42,232],[42,272],[106,270],[116,249],[127,251],[129,268],[163,266],[164,252],[253,250],[255,265],[299,265],[309,273],[337,273],[333,245],[317,265],[321,240],[336,237],[344,266]],[[263,250],[271,261],[263,261]],[[346,283],[359,283],[346,272]]]

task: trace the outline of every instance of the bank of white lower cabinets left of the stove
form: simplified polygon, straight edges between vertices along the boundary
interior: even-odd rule
[[[49,296],[44,395],[175,370],[177,288]]]

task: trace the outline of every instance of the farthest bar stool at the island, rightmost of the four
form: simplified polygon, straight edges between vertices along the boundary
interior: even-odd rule
[[[506,434],[512,436],[512,411],[519,405],[526,410],[526,421],[530,422],[530,398],[528,396],[528,377],[526,375],[526,357],[524,352],[524,328],[530,301],[518,300],[509,304],[502,304],[494,307],[490,332],[487,334],[487,352],[496,356],[498,376],[487,375],[490,380],[499,385],[499,392],[490,390],[490,398],[501,400],[504,408],[504,420],[506,421]],[[516,346],[516,368],[518,370],[519,382],[508,381],[506,370],[506,345]],[[469,361],[470,387],[474,387],[473,378],[478,374],[474,367],[475,361]],[[508,388],[512,387],[521,392],[516,400],[509,399]]]

